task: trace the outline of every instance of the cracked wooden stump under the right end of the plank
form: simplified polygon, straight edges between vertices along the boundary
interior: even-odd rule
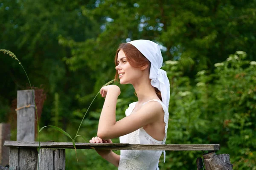
[[[216,155],[215,152],[203,155],[206,170],[232,170],[233,164],[230,163],[229,154]]]

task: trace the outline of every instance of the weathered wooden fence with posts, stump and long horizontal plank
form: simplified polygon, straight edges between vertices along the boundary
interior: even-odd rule
[[[31,92],[31,91],[30,91]],[[17,105],[18,119],[25,121],[20,122],[22,129],[27,133],[34,133],[35,122],[31,121],[32,115],[35,116],[35,111],[32,111],[32,93],[29,96],[29,91],[18,91],[19,100],[22,99],[23,104]],[[24,95],[23,95],[24,94]],[[28,99],[28,100],[27,100]],[[26,102],[25,102],[26,100]],[[32,107],[31,107],[32,106]],[[28,114],[26,111],[30,111]],[[28,119],[21,118],[28,116]],[[17,120],[18,121],[18,120]],[[24,127],[28,125],[30,127]],[[32,127],[33,126],[33,127]],[[17,127],[19,128],[19,127]],[[32,129],[32,130],[31,130]],[[4,146],[10,147],[9,152],[9,170],[36,170],[38,165],[40,170],[65,170],[65,149],[72,149],[73,143],[68,142],[40,142],[40,155],[38,159],[39,142],[29,142],[26,133],[18,130],[23,134],[21,139],[23,141],[5,141]],[[17,134],[18,136],[18,134]],[[24,137],[25,136],[25,137]],[[33,136],[33,135],[29,135]],[[29,139],[29,140],[30,140]],[[228,154],[216,155],[215,151],[220,149],[219,144],[109,144],[109,143],[76,143],[76,149],[107,149],[107,150],[198,150],[209,151],[203,155],[204,165],[206,170],[232,170],[233,165],[230,163]],[[197,169],[203,169],[203,161],[201,158],[197,159]],[[0,167],[1,170],[1,167]]]

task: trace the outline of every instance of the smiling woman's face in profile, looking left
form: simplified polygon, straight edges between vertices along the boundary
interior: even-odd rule
[[[116,70],[119,74],[120,84],[134,84],[142,77],[141,69],[132,67],[122,50],[117,55],[117,64]]]

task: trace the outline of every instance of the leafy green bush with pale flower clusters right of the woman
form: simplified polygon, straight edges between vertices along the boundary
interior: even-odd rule
[[[234,170],[255,170],[256,62],[236,51],[214,72],[183,76],[179,62],[166,61],[171,84],[167,144],[221,144]],[[195,169],[198,151],[167,152],[163,169]]]

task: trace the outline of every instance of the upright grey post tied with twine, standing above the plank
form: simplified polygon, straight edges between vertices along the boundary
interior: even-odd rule
[[[28,105],[35,105],[32,91],[17,91],[17,141],[35,141],[35,107]]]

